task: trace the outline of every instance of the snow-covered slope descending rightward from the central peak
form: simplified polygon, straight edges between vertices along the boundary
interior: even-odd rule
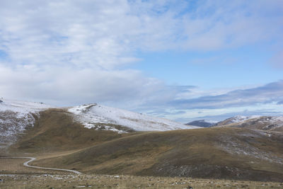
[[[118,108],[110,108],[96,103],[75,106],[69,108],[69,112],[74,113],[74,115],[76,115],[76,119],[79,122],[82,122],[87,128],[94,127],[98,129],[99,124],[122,125],[136,131],[166,131],[199,128],[183,125],[163,118],[154,118],[141,113],[133,113]],[[121,130],[118,131],[115,127],[110,126],[107,126],[104,130],[122,132]]]

